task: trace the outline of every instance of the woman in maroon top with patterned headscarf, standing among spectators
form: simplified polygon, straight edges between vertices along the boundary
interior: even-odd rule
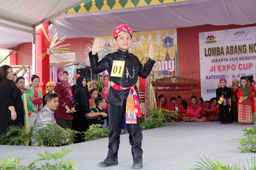
[[[54,111],[54,117],[57,118],[57,124],[62,128],[72,128],[72,120],[75,105],[71,104],[73,98],[72,88],[68,82],[68,73],[61,70],[58,75],[60,82],[54,88],[54,92],[59,94],[59,107]]]

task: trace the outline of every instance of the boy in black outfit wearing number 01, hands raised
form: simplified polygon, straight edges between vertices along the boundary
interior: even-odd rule
[[[128,49],[132,46],[132,31],[126,24],[115,27],[114,43],[118,50],[109,53],[98,62],[97,53],[103,48],[100,47],[100,39],[96,38],[89,53],[92,73],[97,74],[108,69],[109,81],[111,85],[108,92],[108,155],[99,165],[109,167],[118,164],[118,149],[120,144],[120,132],[123,120],[123,113],[126,113],[126,123],[129,132],[129,142],[132,146],[133,168],[142,168],[142,129],[140,125],[141,108],[138,98],[138,88],[136,82],[138,76],[147,78],[150,74],[154,61],[154,48],[149,46],[149,59],[144,64],[138,57],[129,53]]]

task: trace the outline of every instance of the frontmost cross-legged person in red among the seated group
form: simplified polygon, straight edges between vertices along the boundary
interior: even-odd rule
[[[186,114],[183,117],[184,121],[194,121],[194,122],[205,122],[207,121],[205,117],[202,117],[202,112],[206,112],[203,110],[200,104],[197,104],[197,99],[195,95],[191,97],[191,105],[187,108]]]

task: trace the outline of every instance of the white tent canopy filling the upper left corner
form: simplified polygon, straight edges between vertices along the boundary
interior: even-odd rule
[[[86,0],[1,0],[0,48],[32,42],[40,25]]]

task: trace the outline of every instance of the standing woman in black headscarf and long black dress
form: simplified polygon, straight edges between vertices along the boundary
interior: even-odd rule
[[[90,112],[89,98],[91,95],[88,91],[87,80],[84,76],[76,79],[76,88],[74,99],[78,101],[77,111],[74,114],[72,129],[75,131],[85,132],[88,129],[87,115]],[[84,142],[81,134],[77,135],[77,143]]]

